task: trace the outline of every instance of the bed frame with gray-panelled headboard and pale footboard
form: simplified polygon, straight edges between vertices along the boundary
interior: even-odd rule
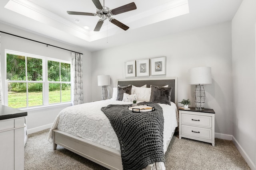
[[[143,86],[150,84],[156,86],[169,85],[172,87],[171,101],[176,105],[177,102],[177,77],[165,77],[165,78],[136,78],[136,79],[122,79],[118,80],[118,85],[127,86],[132,84],[134,86]],[[172,134],[173,136],[173,134]],[[57,145],[64,147],[84,158],[87,158],[97,164],[100,164],[110,170],[122,170],[121,154],[118,150],[112,149],[86,139],[76,137],[69,133],[60,131],[58,129],[52,130],[52,143],[53,149],[56,150]],[[167,143],[169,146],[170,141]],[[146,167],[146,170],[151,170],[153,164]]]

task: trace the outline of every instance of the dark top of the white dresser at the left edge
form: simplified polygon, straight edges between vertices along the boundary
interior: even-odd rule
[[[0,105],[0,120],[27,116],[28,112]]]

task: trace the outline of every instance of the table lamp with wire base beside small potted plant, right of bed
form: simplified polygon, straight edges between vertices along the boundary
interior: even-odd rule
[[[196,110],[204,110],[205,92],[204,84],[212,84],[211,67],[195,67],[189,70],[190,85],[196,85],[194,90],[194,102]]]

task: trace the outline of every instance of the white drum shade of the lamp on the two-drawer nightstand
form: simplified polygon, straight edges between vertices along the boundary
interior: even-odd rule
[[[195,67],[189,70],[190,85],[194,84],[212,84],[211,67]]]

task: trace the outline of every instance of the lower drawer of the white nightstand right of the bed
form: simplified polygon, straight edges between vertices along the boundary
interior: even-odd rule
[[[194,127],[188,125],[182,125],[182,135],[189,135],[194,137],[200,137],[204,139],[212,139],[212,129],[203,127]],[[185,137],[185,136],[184,136]]]

